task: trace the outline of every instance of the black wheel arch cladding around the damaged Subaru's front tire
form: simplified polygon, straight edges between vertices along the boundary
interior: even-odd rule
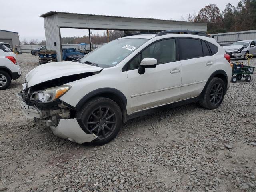
[[[76,108],[79,110],[88,100],[91,98],[94,98],[96,96],[100,97],[106,97],[118,104],[118,106],[121,108],[122,113],[123,113],[123,119],[124,119],[124,114],[126,111],[126,104],[127,104],[127,98],[124,96],[122,92],[115,88],[99,88],[96,89],[85,96],[76,104]]]

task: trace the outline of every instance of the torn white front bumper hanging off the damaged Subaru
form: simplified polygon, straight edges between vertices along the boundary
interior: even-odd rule
[[[19,106],[26,118],[36,120],[38,126],[50,127],[56,136],[79,144],[91,142],[97,138],[95,134],[84,132],[78,123],[78,119],[70,119],[68,109],[40,110],[36,106],[26,104],[22,98],[23,95],[21,92],[16,94]]]

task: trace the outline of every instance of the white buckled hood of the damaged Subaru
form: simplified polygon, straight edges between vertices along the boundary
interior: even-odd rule
[[[52,62],[32,69],[26,74],[26,81],[28,87],[31,87],[48,80],[86,72],[97,72],[102,69],[101,67],[73,61]]]

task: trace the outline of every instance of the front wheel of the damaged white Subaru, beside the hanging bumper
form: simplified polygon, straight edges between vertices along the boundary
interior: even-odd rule
[[[111,99],[95,97],[76,113],[76,118],[89,132],[98,137],[90,142],[93,145],[104,145],[113,140],[122,127],[122,111]]]

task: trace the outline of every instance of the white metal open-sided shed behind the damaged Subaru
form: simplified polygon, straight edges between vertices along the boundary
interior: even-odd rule
[[[101,30],[197,30],[206,32],[207,23],[182,22],[152,18],[132,18],[50,11],[42,14],[47,49],[56,50],[57,60],[62,59],[60,28]],[[90,34],[90,32],[89,32]]]

